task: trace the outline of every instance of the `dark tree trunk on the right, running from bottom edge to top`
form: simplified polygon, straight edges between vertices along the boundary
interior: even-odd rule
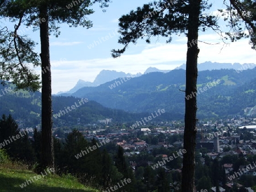
[[[185,130],[184,149],[187,151],[183,155],[181,191],[194,191],[195,185],[195,148],[196,148],[196,93],[197,93],[197,47],[199,14],[201,0],[189,1],[188,18],[188,51],[186,63],[186,89],[185,96],[192,94],[193,97],[185,99]],[[194,96],[195,95],[195,96]],[[187,97],[188,98],[188,97]]]

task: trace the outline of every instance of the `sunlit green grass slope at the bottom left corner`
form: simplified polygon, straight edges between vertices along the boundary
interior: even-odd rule
[[[96,192],[99,190],[92,189],[90,187],[85,187],[79,183],[75,177],[72,176],[57,176],[53,174],[44,173],[45,177],[42,177],[35,182],[30,183],[26,187],[21,188],[20,185],[26,182],[26,180],[31,180],[31,177],[38,176],[36,173],[31,170],[27,170],[24,165],[14,165],[10,162],[7,164],[0,164],[0,191],[9,192],[9,191],[37,191],[37,192]]]

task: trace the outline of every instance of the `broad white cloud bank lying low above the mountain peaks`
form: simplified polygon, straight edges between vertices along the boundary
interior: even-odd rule
[[[243,39],[228,45],[221,43],[217,34],[200,35],[199,40],[209,45],[198,43],[200,48],[198,62],[255,62],[255,51],[248,44],[249,39]],[[137,54],[126,54],[113,59],[112,57],[90,60],[67,61],[60,59],[52,61],[52,90],[67,91],[76,85],[78,80],[93,82],[101,70],[117,70],[125,73],[144,73],[144,71],[154,66],[159,69],[174,69],[185,63],[187,53],[187,40],[180,37],[170,44],[144,44],[144,49]],[[220,43],[220,44],[216,44]],[[130,50],[134,45],[130,46]],[[40,70],[39,70],[40,72]]]

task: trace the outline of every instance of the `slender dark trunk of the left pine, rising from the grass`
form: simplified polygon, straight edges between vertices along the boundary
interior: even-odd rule
[[[49,59],[49,26],[47,3],[40,6],[39,18],[46,21],[40,23],[41,61],[42,61],[42,157],[41,168],[54,168],[52,137],[52,89],[51,64]],[[44,21],[42,19],[42,21]]]

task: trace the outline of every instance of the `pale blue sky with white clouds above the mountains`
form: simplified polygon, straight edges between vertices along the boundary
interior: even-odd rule
[[[170,44],[166,44],[166,39],[163,37],[152,40],[151,44],[140,40],[137,45],[131,44],[127,52],[118,59],[111,57],[110,51],[113,48],[122,47],[117,43],[118,18],[147,2],[150,1],[113,0],[106,12],[102,12],[97,4],[93,6],[96,12],[88,16],[93,21],[93,27],[89,30],[82,27],[70,28],[67,24],[62,24],[60,36],[50,37],[52,93],[70,90],[80,79],[92,82],[103,69],[135,74],[143,73],[150,66],[174,69],[184,64],[187,38],[175,35]],[[222,7],[222,2],[212,2],[213,9],[210,11],[216,11]],[[39,31],[25,31],[31,39],[39,43]],[[108,40],[100,41],[102,37]],[[255,62],[256,52],[250,48],[249,39],[223,45],[218,34],[207,31],[200,33],[199,40],[214,44],[199,42],[199,63],[205,61],[240,62],[241,64]],[[95,46],[94,41],[100,44],[96,42]],[[92,44],[94,44],[93,48]],[[39,48],[39,46],[36,48],[38,52],[40,52]],[[39,68],[36,72],[41,73]]]

